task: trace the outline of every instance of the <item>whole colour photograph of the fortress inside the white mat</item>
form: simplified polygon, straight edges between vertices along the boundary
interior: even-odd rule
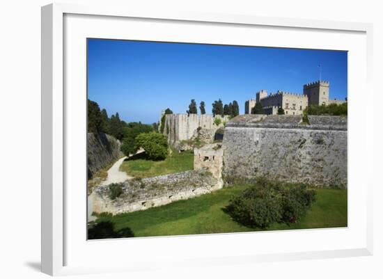
[[[87,38],[86,95],[88,240],[347,228],[347,51]]]

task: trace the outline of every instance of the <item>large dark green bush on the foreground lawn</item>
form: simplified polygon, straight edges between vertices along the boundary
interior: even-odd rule
[[[295,223],[315,200],[315,191],[308,190],[306,186],[286,188],[258,180],[240,196],[230,200],[226,212],[242,225],[265,229],[272,223]]]

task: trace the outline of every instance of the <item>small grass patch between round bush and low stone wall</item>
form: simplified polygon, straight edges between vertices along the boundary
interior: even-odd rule
[[[145,154],[141,153],[126,159],[123,164],[121,164],[120,170],[134,177],[153,177],[192,170],[193,160],[194,155],[192,151],[189,150],[181,153],[173,150],[163,161],[148,160]]]

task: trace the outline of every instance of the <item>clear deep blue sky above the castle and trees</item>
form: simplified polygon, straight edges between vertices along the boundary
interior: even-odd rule
[[[330,99],[347,97],[347,52],[88,39],[88,98],[126,122],[153,123],[163,109],[185,113],[190,99],[244,102],[261,89],[303,93],[330,82]],[[199,109],[198,109],[199,113]]]

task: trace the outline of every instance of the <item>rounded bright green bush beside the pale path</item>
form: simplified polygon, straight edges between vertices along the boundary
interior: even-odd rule
[[[150,133],[139,134],[135,139],[135,148],[143,148],[148,159],[164,160],[168,154],[168,141],[163,134],[152,131]]]

